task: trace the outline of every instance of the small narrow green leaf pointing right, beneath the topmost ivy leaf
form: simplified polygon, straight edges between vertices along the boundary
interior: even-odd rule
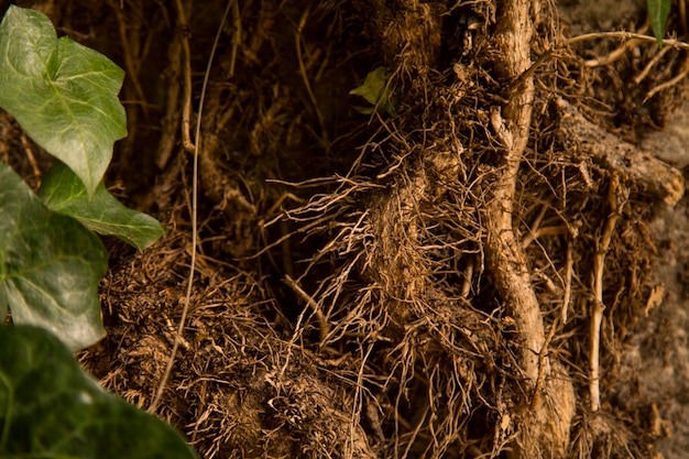
[[[116,236],[139,250],[165,234],[155,218],[125,207],[108,193],[102,182],[89,199],[81,181],[64,164],[48,171],[39,197],[50,209],[74,217],[100,234]]]

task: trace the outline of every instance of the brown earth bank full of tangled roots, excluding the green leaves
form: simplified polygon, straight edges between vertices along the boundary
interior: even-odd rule
[[[18,3],[127,70],[107,184],[167,229],[79,360],[200,457],[683,457],[686,52],[566,42],[645,2]]]

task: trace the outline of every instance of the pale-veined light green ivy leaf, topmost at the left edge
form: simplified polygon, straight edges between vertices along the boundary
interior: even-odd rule
[[[50,19],[10,7],[0,23],[0,108],[96,190],[127,135],[117,98],[124,72],[106,56],[57,39]]]

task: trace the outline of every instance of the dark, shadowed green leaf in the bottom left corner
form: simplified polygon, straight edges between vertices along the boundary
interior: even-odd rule
[[[0,326],[0,457],[195,459],[179,433],[109,394],[52,334]]]

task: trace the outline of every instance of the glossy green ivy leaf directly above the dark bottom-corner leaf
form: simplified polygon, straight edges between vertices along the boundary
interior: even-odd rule
[[[96,234],[48,210],[0,163],[0,305],[14,324],[47,328],[73,350],[95,343],[106,335],[98,282],[107,267]]]

